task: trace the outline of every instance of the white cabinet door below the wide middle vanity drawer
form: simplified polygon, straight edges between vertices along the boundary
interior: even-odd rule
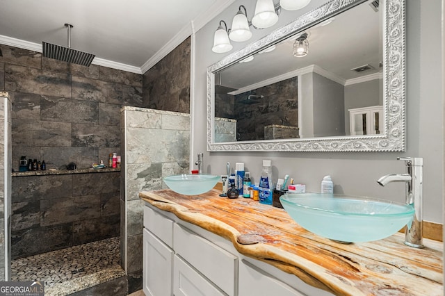
[[[175,255],[174,263],[175,296],[223,296],[213,284],[197,273],[190,265]]]

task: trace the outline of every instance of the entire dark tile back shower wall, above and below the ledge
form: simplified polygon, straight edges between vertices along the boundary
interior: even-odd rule
[[[90,167],[120,151],[120,108],[143,105],[142,75],[42,58],[0,44],[0,90],[13,102],[13,169]],[[13,178],[13,258],[120,235],[120,172]]]

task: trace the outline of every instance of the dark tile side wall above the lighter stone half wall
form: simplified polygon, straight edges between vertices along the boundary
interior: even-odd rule
[[[143,107],[190,113],[190,38],[143,75]]]

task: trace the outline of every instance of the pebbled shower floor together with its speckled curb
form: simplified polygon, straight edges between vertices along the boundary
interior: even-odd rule
[[[63,296],[125,276],[120,238],[107,238],[13,260],[12,281],[40,281],[45,296]]]

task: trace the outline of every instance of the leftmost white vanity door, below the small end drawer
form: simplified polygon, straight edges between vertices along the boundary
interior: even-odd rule
[[[173,251],[152,233],[143,234],[143,290],[146,296],[168,296],[172,291]]]

